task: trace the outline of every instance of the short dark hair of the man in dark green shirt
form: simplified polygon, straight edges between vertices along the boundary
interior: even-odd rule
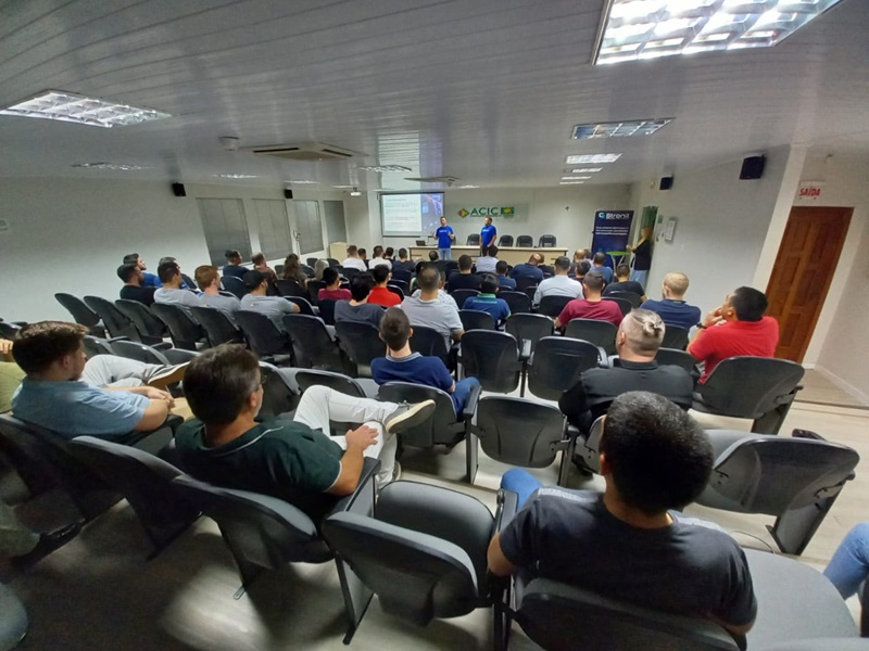
[[[205,425],[231,423],[259,388],[260,362],[239,344],[204,350],[184,372],[187,404]]]

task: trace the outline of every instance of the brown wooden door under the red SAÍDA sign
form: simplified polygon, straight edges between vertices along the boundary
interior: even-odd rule
[[[815,332],[852,208],[794,207],[767,286],[767,315],[779,321],[776,357],[802,362]]]

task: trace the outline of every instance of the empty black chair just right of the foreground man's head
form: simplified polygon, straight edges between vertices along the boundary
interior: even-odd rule
[[[767,527],[784,553],[799,556],[860,460],[856,450],[794,430],[792,437],[706,432],[715,464],[697,503],[776,516]]]

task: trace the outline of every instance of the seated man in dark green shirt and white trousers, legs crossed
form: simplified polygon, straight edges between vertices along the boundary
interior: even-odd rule
[[[355,490],[363,457],[380,459],[379,486],[395,478],[395,434],[434,410],[433,400],[396,405],[312,386],[292,418],[259,423],[260,363],[243,346],[228,344],[190,362],[185,393],[197,417],[175,435],[186,471],[218,486],[287,500],[317,523],[338,497]],[[330,436],[330,420],[365,424]]]

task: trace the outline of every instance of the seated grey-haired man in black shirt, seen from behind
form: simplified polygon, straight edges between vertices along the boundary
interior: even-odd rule
[[[589,369],[562,394],[558,408],[570,424],[588,433],[610,403],[629,391],[648,391],[669,398],[684,410],[691,408],[694,381],[681,367],[655,361],[664,341],[664,322],[655,312],[628,312],[616,333],[618,359],[608,369]]]

